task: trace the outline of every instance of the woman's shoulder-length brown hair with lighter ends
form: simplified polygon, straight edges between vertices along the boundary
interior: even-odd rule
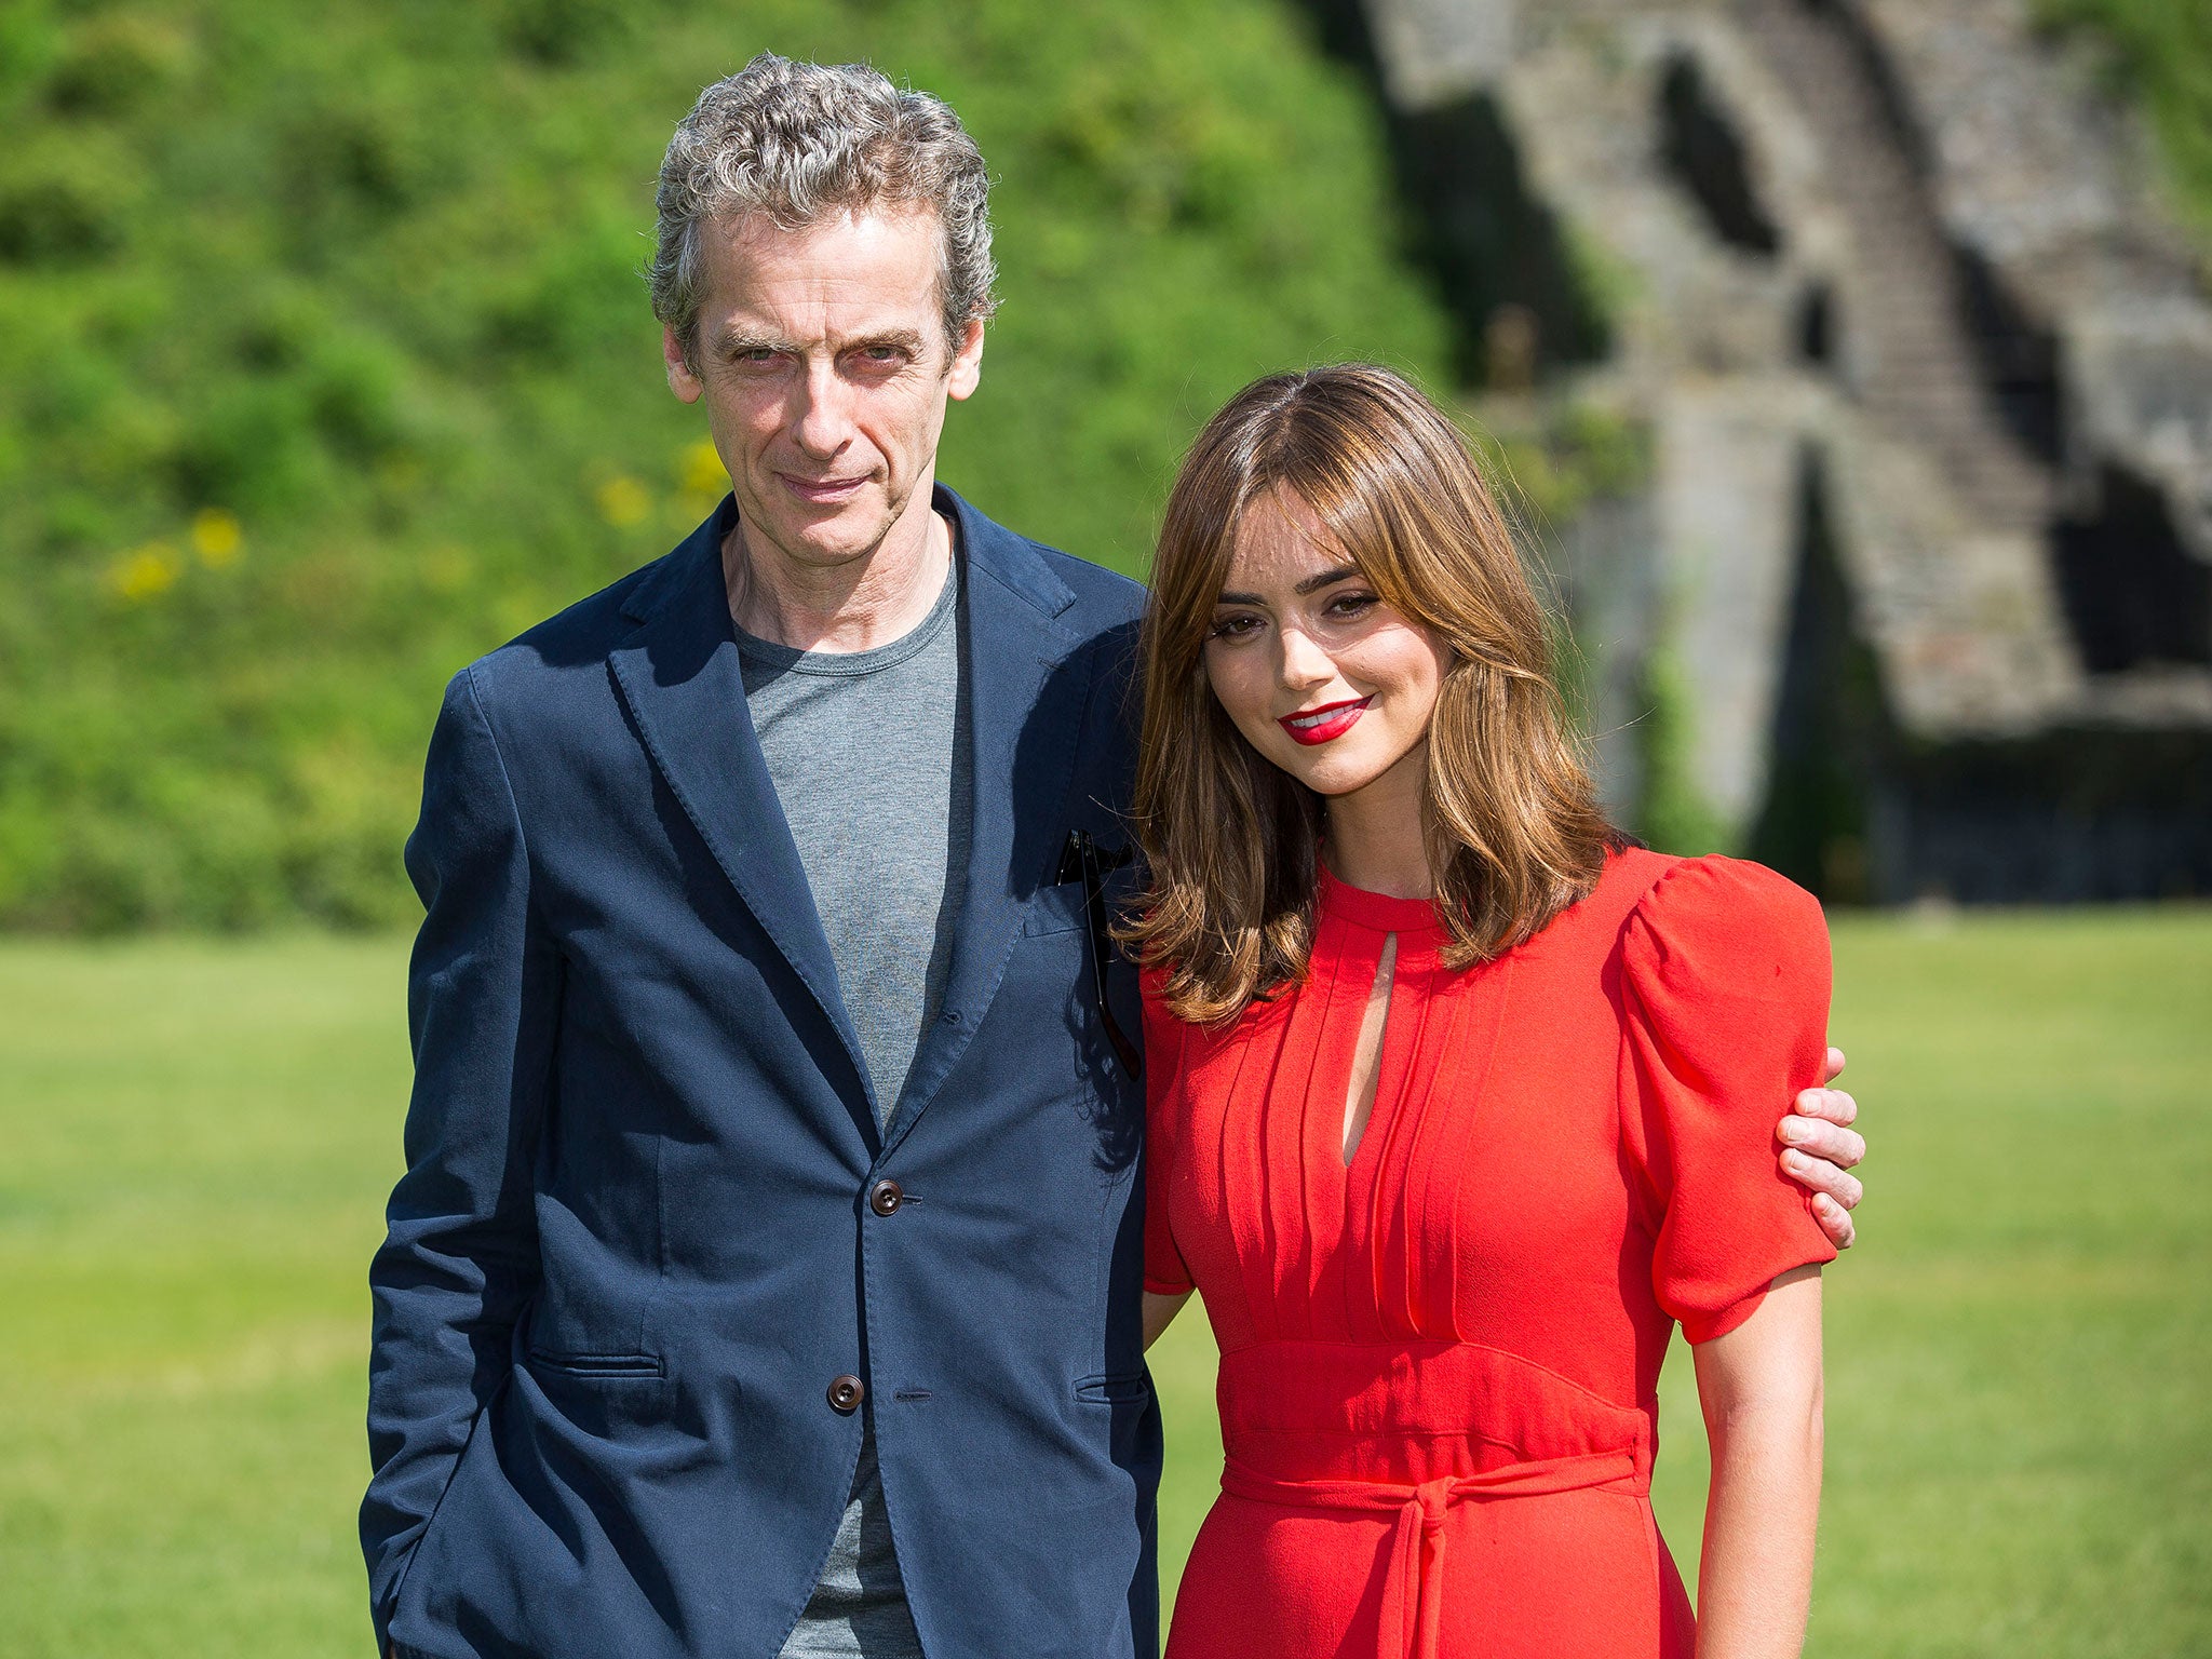
[[[1544,606],[1467,440],[1389,369],[1270,374],[1190,447],[1144,619],[1150,889],[1121,936],[1166,973],[1168,1009],[1201,1024],[1303,978],[1314,938],[1323,801],[1245,743],[1206,679],[1237,529],[1274,491],[1303,500],[1383,602],[1453,650],[1422,792],[1444,962],[1531,938],[1621,845],[1566,723]]]

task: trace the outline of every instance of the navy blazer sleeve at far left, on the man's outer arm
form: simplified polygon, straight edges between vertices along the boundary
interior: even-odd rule
[[[515,796],[471,670],[438,712],[407,874],[425,905],[407,978],[407,1172],[369,1263],[374,1475],[361,1546],[378,1646],[538,1285],[531,1166],[560,958],[533,914]]]

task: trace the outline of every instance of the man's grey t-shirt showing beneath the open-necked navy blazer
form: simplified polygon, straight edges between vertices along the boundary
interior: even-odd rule
[[[960,560],[920,626],[874,650],[807,653],[739,630],[745,703],[799,843],[838,993],[889,1124],[951,967],[969,847]],[[821,1584],[785,1659],[920,1659],[876,1473],[874,1405]]]

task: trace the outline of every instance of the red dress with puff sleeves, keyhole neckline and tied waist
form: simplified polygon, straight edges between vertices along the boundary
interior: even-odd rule
[[[1312,971],[1221,1031],[1148,984],[1146,1285],[1221,1345],[1221,1498],[1168,1659],[1688,1659],[1652,1524],[1674,1323],[1832,1261],[1774,1168],[1827,931],[1781,876],[1628,852],[1504,958],[1323,876]],[[1398,936],[1374,1113],[1343,1108]]]

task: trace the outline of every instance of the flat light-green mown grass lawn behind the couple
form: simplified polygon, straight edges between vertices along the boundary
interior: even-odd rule
[[[1838,925],[1818,1655],[2212,1655],[2212,911]],[[367,1655],[394,940],[0,945],[0,1657]],[[1170,1584],[1212,1354],[1155,1354]],[[1694,1571],[1670,1371],[1659,1509]]]

